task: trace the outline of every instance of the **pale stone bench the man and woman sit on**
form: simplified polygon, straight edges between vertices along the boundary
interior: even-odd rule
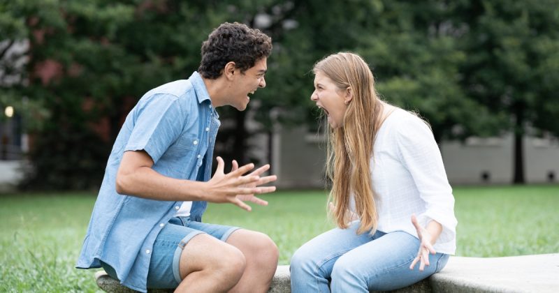
[[[111,293],[134,292],[104,271],[97,285]],[[289,266],[277,266],[269,293],[290,293]],[[167,293],[173,290],[150,290]],[[440,272],[393,293],[430,292],[559,292],[559,253],[517,257],[451,257]]]

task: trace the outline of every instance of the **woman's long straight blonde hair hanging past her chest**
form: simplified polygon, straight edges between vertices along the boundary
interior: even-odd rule
[[[357,54],[332,54],[314,65],[313,73],[324,73],[353,98],[344,114],[343,126],[328,128],[326,174],[332,182],[328,202],[333,202],[332,216],[340,228],[347,228],[350,194],[354,195],[355,213],[361,220],[358,234],[377,229],[377,209],[372,190],[370,158],[380,125],[383,105],[375,91],[375,80],[365,61]]]

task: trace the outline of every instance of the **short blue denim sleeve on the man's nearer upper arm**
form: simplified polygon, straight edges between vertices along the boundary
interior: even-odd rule
[[[143,103],[142,103],[143,102]],[[184,111],[173,95],[154,95],[140,101],[133,113],[131,135],[124,151],[146,151],[157,163],[181,135]]]

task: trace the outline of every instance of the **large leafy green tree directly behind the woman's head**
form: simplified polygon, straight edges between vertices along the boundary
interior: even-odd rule
[[[308,101],[312,64],[327,54],[352,51],[370,63],[382,96],[418,110],[438,142],[494,134],[501,117],[492,117],[461,87],[460,65],[466,52],[457,39],[463,29],[452,22],[455,7],[445,3],[307,0],[284,4],[277,17],[282,22],[270,27],[279,43],[273,58],[281,66],[270,70],[273,89],[263,93],[262,108],[289,109],[280,118],[305,121],[312,105]],[[295,22],[296,29],[282,29],[286,21]],[[269,117],[268,111],[259,114],[270,127],[270,119],[263,117]]]

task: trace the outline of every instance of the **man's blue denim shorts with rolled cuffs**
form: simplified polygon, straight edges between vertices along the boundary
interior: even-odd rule
[[[184,246],[192,237],[205,233],[226,241],[238,227],[200,223],[189,217],[175,217],[169,220],[157,235],[153,244],[150,270],[147,273],[147,287],[150,289],[176,288],[180,281],[179,261]],[[112,278],[117,278],[115,270],[101,262],[101,266]]]

